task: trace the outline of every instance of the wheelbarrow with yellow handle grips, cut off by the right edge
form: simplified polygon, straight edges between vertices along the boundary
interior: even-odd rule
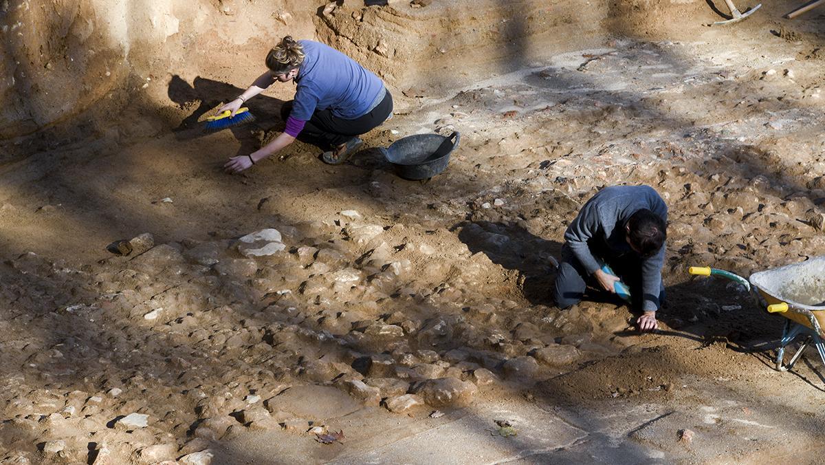
[[[825,363],[825,256],[808,259],[802,263],[785,265],[758,273],[745,279],[737,274],[716,268],[691,267],[688,272],[697,276],[718,276],[742,284],[766,311],[785,316],[785,329],[776,351],[775,368],[785,372],[808,347],[813,344]],[[802,345],[785,363],[785,347],[797,336],[804,338]]]

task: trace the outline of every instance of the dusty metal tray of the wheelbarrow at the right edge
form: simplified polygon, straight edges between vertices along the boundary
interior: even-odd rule
[[[768,305],[785,302],[808,310],[825,328],[825,256],[753,273],[748,281]],[[807,316],[792,311],[782,316],[812,328]]]

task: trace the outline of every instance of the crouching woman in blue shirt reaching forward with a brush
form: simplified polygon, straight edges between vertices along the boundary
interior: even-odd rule
[[[342,164],[361,145],[358,135],[392,115],[393,97],[381,79],[328,45],[286,36],[266,55],[266,67],[269,71],[219,112],[229,110],[234,115],[243,102],[276,80],[294,80],[295,99],[285,103],[281,111],[286,128],[252,154],[230,158],[224,165],[227,171],[238,173],[251,167],[290,145],[298,135],[329,149],[322,155],[324,162]]]

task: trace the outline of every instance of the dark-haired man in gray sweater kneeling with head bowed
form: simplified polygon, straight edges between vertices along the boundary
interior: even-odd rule
[[[639,330],[658,329],[656,311],[664,300],[667,206],[649,186],[610,186],[596,192],[564,233],[555,301],[568,308],[582,301],[587,282],[615,293],[615,282],[630,289],[643,314]],[[608,264],[618,276],[606,273]]]

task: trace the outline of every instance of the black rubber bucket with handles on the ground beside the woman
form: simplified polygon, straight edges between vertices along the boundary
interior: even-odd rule
[[[449,137],[437,134],[417,134],[402,137],[380,148],[384,159],[394,164],[398,176],[417,181],[429,179],[447,168],[450,154],[459,146],[460,134]]]

